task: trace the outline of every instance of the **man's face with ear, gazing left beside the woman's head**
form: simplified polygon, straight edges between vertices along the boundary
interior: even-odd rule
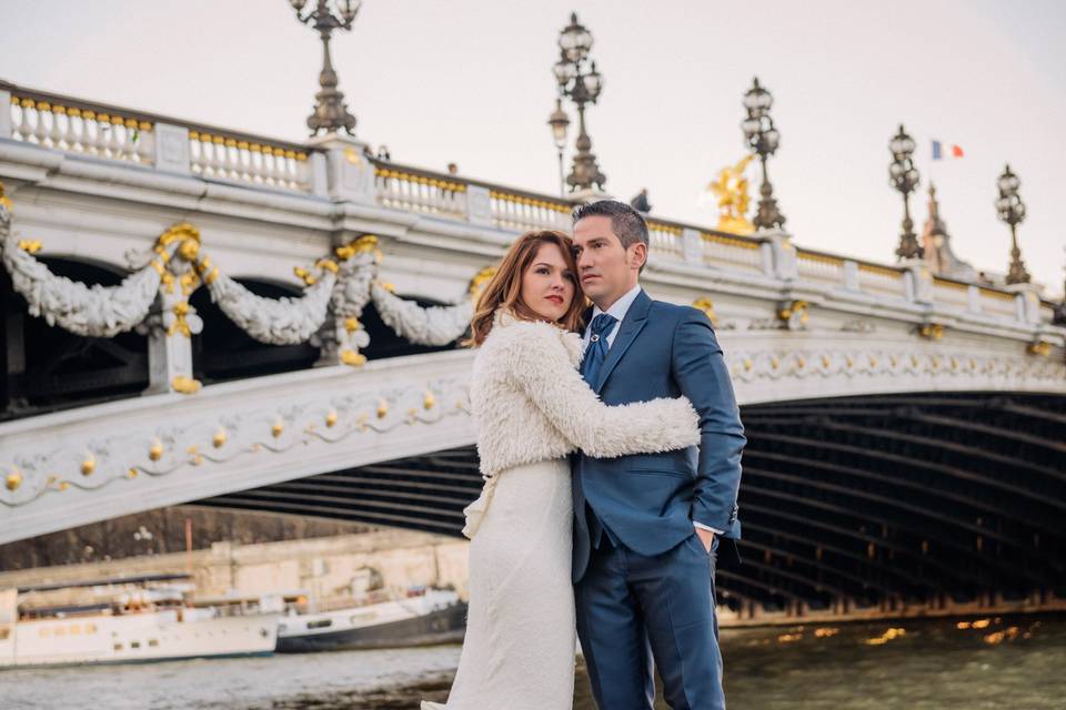
[[[605,311],[636,285],[647,247],[623,247],[611,217],[595,214],[574,224],[574,256],[582,290]]]

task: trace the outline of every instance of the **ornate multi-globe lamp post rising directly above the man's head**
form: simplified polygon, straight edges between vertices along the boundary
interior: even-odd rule
[[[596,102],[603,90],[603,78],[596,71],[596,62],[589,59],[592,33],[577,21],[576,12],[571,13],[570,24],[559,34],[559,49],[561,55],[554,68],[559,91],[577,105],[577,152],[566,184],[574,192],[591,190],[593,185],[602,190],[607,176],[596,164],[592,139],[585,131],[585,104]]]

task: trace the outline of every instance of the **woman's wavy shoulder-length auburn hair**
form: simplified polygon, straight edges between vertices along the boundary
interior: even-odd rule
[[[577,283],[577,262],[574,260],[573,240],[554,230],[526,232],[511,245],[496,273],[489,280],[470,322],[470,338],[463,342],[469,347],[477,347],[485,342],[492,331],[493,316],[501,307],[510,308],[522,321],[540,321],[541,317],[522,301],[522,276],[533,263],[533,258],[544,244],[554,244],[563,254],[570,278],[574,284],[574,300],[560,321],[567,331],[581,329],[585,311],[585,296]]]

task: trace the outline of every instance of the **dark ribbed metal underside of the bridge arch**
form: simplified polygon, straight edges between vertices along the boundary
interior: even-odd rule
[[[1066,597],[1066,397],[912,394],[743,408],[732,608]],[[459,535],[473,447],[197,505]],[[854,608],[853,607],[853,608]]]

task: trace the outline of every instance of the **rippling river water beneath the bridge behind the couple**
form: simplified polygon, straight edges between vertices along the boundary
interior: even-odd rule
[[[722,648],[731,710],[1066,709],[1063,616],[726,629]],[[0,709],[416,709],[446,698],[459,652],[3,671]],[[576,686],[574,710],[594,710],[580,667]]]

